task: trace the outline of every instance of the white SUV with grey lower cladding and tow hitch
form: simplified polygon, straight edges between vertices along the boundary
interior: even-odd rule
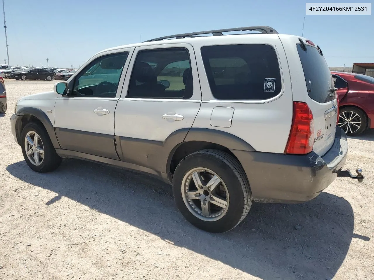
[[[337,117],[321,49],[259,26],[104,50],[19,99],[11,122],[34,171],[80,158],[145,172],[172,184],[190,223],[224,232],[252,201],[305,202],[336,177],[363,180],[341,170]]]

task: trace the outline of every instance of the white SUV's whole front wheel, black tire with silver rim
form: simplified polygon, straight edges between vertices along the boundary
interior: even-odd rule
[[[30,158],[27,156],[26,149],[29,150],[30,142],[26,140],[26,136],[28,135],[31,140],[35,140],[35,133],[39,136],[39,140],[37,140],[37,146],[39,147],[39,150],[43,150],[43,155],[39,153],[38,161],[39,165],[37,165],[37,162],[35,160],[35,154],[32,153],[30,155],[33,162],[30,160]],[[41,141],[41,144],[40,144]],[[27,144],[26,144],[27,142]],[[26,147],[28,146],[28,147]],[[22,154],[24,156],[24,159],[31,169],[33,169],[36,172],[49,172],[53,171],[56,168],[59,167],[61,164],[62,158],[60,158],[55,148],[53,147],[52,142],[50,141],[49,135],[46,131],[46,129],[43,127],[43,125],[38,124],[36,122],[30,122],[27,125],[25,125],[24,129],[22,130],[21,135],[21,147],[22,147]]]

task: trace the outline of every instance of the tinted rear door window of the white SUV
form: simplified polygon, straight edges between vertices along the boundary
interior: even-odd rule
[[[144,50],[138,53],[126,97],[191,98],[190,57],[184,48]]]

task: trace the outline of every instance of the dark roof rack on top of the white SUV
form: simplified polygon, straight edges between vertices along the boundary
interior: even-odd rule
[[[200,31],[200,32],[192,32],[192,33],[184,33],[184,34],[176,34],[176,35],[170,35],[165,37],[159,37],[154,38],[151,40],[147,40],[145,42],[152,42],[152,41],[162,41],[164,39],[182,39],[182,38],[194,38],[194,37],[202,37],[197,35],[203,35],[203,34],[213,34],[213,36],[220,36],[225,35],[223,32],[232,32],[232,31],[260,31],[260,34],[278,34],[277,31],[275,31],[274,28],[271,28],[269,26],[261,25],[261,26],[250,26],[250,27],[237,27],[237,28],[229,28],[229,29],[218,29],[218,30],[209,30],[209,31]],[[244,33],[248,34],[248,33]],[[258,33],[256,33],[258,34]],[[227,34],[230,35],[230,34]]]

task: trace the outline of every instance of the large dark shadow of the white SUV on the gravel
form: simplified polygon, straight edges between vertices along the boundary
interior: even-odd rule
[[[349,202],[325,192],[302,204],[254,203],[236,228],[212,234],[189,224],[175,206],[171,187],[146,175],[76,159],[46,174],[31,171],[24,161],[6,169],[57,193],[47,206],[65,196],[264,280],[332,279],[352,238],[367,239],[353,235]]]

